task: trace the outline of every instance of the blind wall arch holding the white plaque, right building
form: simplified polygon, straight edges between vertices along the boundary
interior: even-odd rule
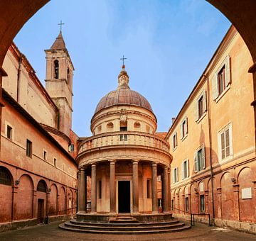
[[[254,184],[255,174],[252,172],[251,167],[242,167],[238,172],[238,213],[239,220],[242,222],[254,222],[255,213],[252,212],[251,207],[255,206]]]

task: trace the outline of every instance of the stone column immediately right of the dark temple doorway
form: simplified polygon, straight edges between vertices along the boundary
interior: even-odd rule
[[[138,163],[139,163],[139,160],[132,160],[132,206],[133,206],[133,213],[139,213]]]

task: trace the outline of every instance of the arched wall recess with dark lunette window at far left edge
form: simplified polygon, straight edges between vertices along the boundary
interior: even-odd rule
[[[6,223],[12,220],[12,192],[14,189],[14,177],[11,174],[11,171],[4,166],[0,166],[0,169],[3,169],[6,174],[9,175],[10,182],[8,185],[0,184],[0,223]]]

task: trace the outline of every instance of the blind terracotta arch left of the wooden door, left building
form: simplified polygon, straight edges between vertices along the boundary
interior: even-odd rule
[[[18,189],[16,189],[15,220],[26,220],[33,218],[34,183],[29,174],[22,174],[19,178]]]

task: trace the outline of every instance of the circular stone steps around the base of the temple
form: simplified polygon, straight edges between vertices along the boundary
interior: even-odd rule
[[[190,225],[172,218],[167,221],[139,223],[132,217],[117,217],[108,223],[70,220],[59,225],[64,230],[102,234],[146,234],[159,232],[178,232],[188,230]]]

